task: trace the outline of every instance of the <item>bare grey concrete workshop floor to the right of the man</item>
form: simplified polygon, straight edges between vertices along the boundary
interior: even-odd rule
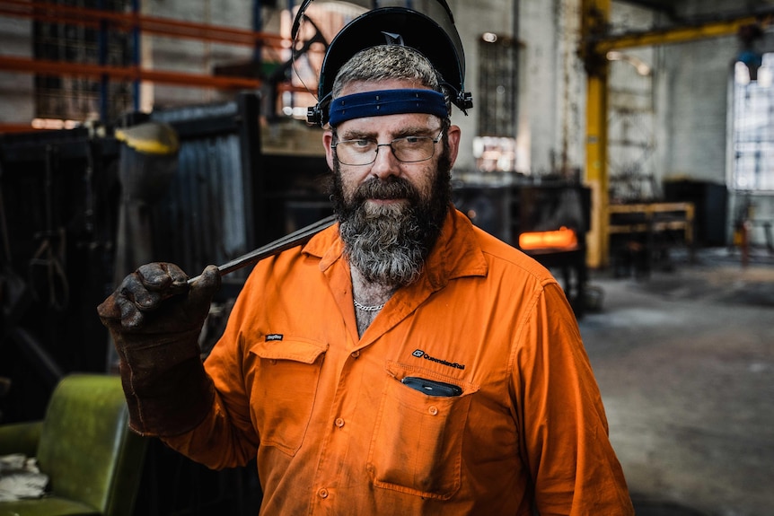
[[[671,263],[580,320],[638,516],[774,515],[774,257]]]

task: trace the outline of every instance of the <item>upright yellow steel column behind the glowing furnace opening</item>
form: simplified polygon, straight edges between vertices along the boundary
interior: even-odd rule
[[[604,30],[610,20],[611,0],[583,0],[583,40]],[[589,50],[582,48],[583,51]],[[598,58],[602,57],[602,58]],[[607,89],[608,63],[601,56],[586,55],[586,184],[591,188],[591,229],[586,239],[586,262],[602,267],[608,261]]]

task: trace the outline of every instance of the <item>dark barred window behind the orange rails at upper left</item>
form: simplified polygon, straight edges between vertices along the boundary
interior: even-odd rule
[[[49,0],[45,5],[65,8],[103,9],[125,12],[131,0]],[[131,33],[105,30],[92,22],[35,22],[34,56],[49,61],[74,64],[129,66],[131,64]],[[52,17],[53,18],[53,17]],[[111,121],[132,108],[130,83],[100,81],[75,75],[42,75],[35,77],[35,116],[64,120]]]

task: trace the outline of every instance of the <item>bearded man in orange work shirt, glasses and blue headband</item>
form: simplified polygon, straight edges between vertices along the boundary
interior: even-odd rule
[[[399,45],[342,66],[339,224],[259,262],[204,367],[214,267],[188,293],[140,267],[102,303],[131,424],[210,468],[257,457],[262,514],[633,514],[559,284],[450,205],[442,90]]]

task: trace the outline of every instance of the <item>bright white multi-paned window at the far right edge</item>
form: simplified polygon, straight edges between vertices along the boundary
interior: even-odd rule
[[[733,163],[730,188],[774,191],[774,53],[763,55],[758,80],[734,69]]]

